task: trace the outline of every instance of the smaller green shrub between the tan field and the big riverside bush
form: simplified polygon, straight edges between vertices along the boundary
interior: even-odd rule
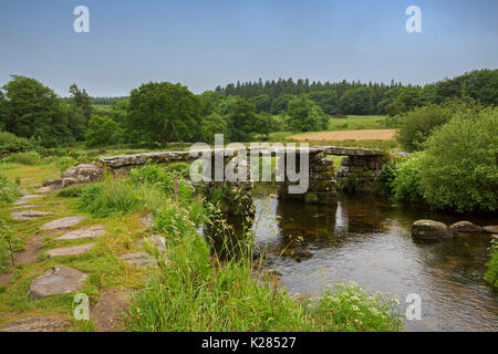
[[[422,149],[433,131],[452,118],[452,111],[442,106],[417,107],[401,117],[397,139],[408,152]]]

